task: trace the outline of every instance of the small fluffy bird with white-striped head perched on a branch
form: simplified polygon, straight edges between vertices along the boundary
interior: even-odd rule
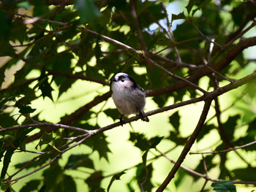
[[[111,83],[112,98],[117,110],[121,113],[120,123],[123,125],[123,116],[131,114],[139,115],[141,120],[148,122],[143,109],[146,104],[145,92],[132,77],[120,72],[113,76]]]

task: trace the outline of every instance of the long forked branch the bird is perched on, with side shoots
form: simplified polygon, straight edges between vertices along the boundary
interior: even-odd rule
[[[225,93],[225,92],[227,92],[227,91],[230,91],[230,90],[232,90],[232,89],[234,89],[234,88],[238,88],[239,86],[244,85],[246,82],[255,80],[255,77],[256,77],[256,72],[253,73],[253,74],[250,74],[250,75],[248,75],[248,76],[246,76],[246,77],[244,77],[244,78],[242,78],[241,80],[237,80],[236,82],[230,83],[229,85],[226,85],[225,87],[222,87],[222,88],[219,88],[219,89],[217,89],[217,90],[215,90],[215,91],[212,91],[211,93],[208,93],[208,95],[206,95],[206,96],[200,96],[199,98],[196,98],[196,99],[191,99],[191,100],[188,100],[188,101],[182,101],[182,102],[180,102],[180,103],[172,104],[172,105],[167,106],[167,107],[162,107],[162,108],[160,108],[160,109],[153,110],[153,111],[151,111],[151,112],[146,112],[146,113],[144,114],[145,116],[155,115],[155,114],[157,114],[157,113],[159,113],[159,112],[165,112],[165,111],[167,111],[167,110],[172,110],[172,109],[175,109],[175,108],[177,108],[177,107],[185,106],[185,105],[187,105],[187,104],[193,104],[193,103],[195,103],[195,102],[199,102],[199,101],[204,101],[204,100],[206,100],[206,104],[207,104],[207,105],[205,104],[205,107],[204,107],[204,110],[203,110],[203,112],[202,112],[200,121],[199,121],[199,123],[197,124],[197,128],[195,128],[195,131],[194,131],[194,133],[192,134],[192,136],[190,137],[189,142],[188,142],[187,145],[184,147],[185,152],[183,151],[183,152],[181,153],[182,157],[180,156],[180,158],[178,158],[178,161],[176,162],[176,165],[175,165],[175,166],[176,166],[176,171],[178,170],[178,169],[177,169],[177,166],[180,166],[180,165],[181,165],[182,161],[184,160],[185,156],[187,155],[187,152],[189,151],[189,149],[190,149],[190,147],[191,147],[191,146],[189,147],[189,145],[192,145],[192,143],[195,142],[195,139],[196,139],[196,137],[197,137],[197,134],[199,133],[201,126],[203,126],[203,125],[202,125],[203,122],[204,122],[203,118],[206,118],[206,115],[207,115],[207,114],[206,114],[206,111],[207,111],[207,108],[210,107],[211,99],[214,98],[214,97],[216,97],[216,96],[221,95],[222,93]],[[108,92],[108,93],[110,93],[110,92]],[[105,96],[108,96],[108,93],[105,93]],[[99,97],[100,97],[100,96],[99,96]],[[130,122],[135,121],[135,120],[138,120],[138,119],[140,119],[139,116],[134,116],[134,117],[132,117],[132,118],[129,118],[129,119],[127,119],[127,120],[124,120],[123,124],[124,124],[124,123],[130,123]],[[2,129],[0,129],[0,132],[3,132],[3,131],[10,131],[10,130],[13,130],[13,129],[15,129],[15,128],[26,128],[26,127],[31,127],[31,126],[33,126],[33,125],[36,126],[36,124],[37,124],[37,123],[32,124],[32,125],[17,126],[17,127],[13,127],[13,128],[2,128]],[[39,123],[39,124],[42,125],[43,123]],[[109,129],[111,129],[111,128],[114,128],[114,127],[117,127],[117,126],[120,126],[120,125],[121,125],[121,123],[118,122],[118,123],[113,123],[113,124],[110,124],[110,125],[108,125],[108,126],[105,126],[105,127],[99,128],[99,129],[95,129],[95,130],[86,130],[86,129],[76,128],[76,127],[72,127],[72,126],[64,126],[64,125],[59,125],[59,124],[47,123],[47,124],[45,124],[45,126],[56,126],[56,127],[59,127],[59,128],[67,128],[67,129],[71,129],[71,130],[74,130],[74,131],[82,131],[82,132],[84,132],[84,133],[86,133],[86,134],[83,134],[83,137],[84,137],[84,138],[81,139],[78,143],[76,143],[75,145],[72,145],[71,147],[68,147],[68,148],[65,149],[65,150],[62,150],[61,153],[59,153],[59,155],[57,155],[57,156],[56,156],[55,158],[53,158],[50,162],[48,162],[48,164],[45,164],[44,166],[41,166],[41,167],[39,167],[38,169],[35,169],[33,172],[30,172],[29,174],[26,174],[26,175],[23,175],[23,176],[21,176],[21,177],[18,177],[18,178],[16,178],[15,180],[8,180],[8,181],[5,181],[4,183],[10,183],[10,182],[12,182],[12,181],[17,181],[17,180],[20,180],[20,179],[23,178],[23,177],[26,177],[26,176],[28,176],[28,175],[30,175],[30,174],[33,174],[34,172],[38,172],[39,170],[41,170],[41,169],[45,168],[46,166],[52,164],[53,161],[56,161],[56,159],[58,159],[59,157],[61,157],[61,155],[62,155],[63,153],[65,153],[67,150],[70,150],[70,149],[72,149],[73,147],[79,145],[80,143],[82,143],[82,142],[85,141],[86,139],[89,139],[90,137],[92,137],[92,136],[94,136],[94,135],[96,135],[96,134],[102,133],[103,131],[107,131],[107,130],[109,130]],[[56,128],[56,127],[55,127],[55,128]],[[69,142],[69,143],[63,145],[62,147],[67,146],[67,145],[70,145],[72,142],[75,142],[77,139],[80,139],[80,138],[81,138],[80,136],[78,136],[77,138],[72,138],[72,141],[71,141],[71,142]],[[68,139],[68,138],[67,138],[67,139]],[[69,138],[69,139],[70,139],[70,138]],[[41,154],[41,155],[42,155],[42,154]],[[173,168],[174,168],[175,166],[173,166]],[[172,169],[172,170],[173,170],[173,169]],[[19,172],[20,172],[20,170],[19,170]],[[173,172],[174,172],[174,171],[173,171]],[[173,174],[173,173],[172,173],[172,174]],[[174,174],[175,174],[175,172],[174,172]],[[173,176],[174,176],[174,175],[173,175]],[[233,183],[239,183],[239,182],[233,182]],[[245,182],[243,182],[243,183],[245,183]],[[166,183],[166,184],[167,184],[167,183]],[[248,184],[252,184],[252,183],[248,182]]]

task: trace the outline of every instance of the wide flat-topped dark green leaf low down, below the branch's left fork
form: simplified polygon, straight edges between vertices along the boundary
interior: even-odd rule
[[[72,154],[67,160],[65,169],[76,169],[80,166],[94,169],[94,162],[89,158],[88,154]]]

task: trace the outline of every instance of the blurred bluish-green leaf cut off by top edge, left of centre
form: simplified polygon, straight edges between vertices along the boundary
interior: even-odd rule
[[[74,5],[75,9],[78,9],[81,23],[85,21],[91,23],[101,15],[99,9],[94,4],[94,0],[75,0]]]

